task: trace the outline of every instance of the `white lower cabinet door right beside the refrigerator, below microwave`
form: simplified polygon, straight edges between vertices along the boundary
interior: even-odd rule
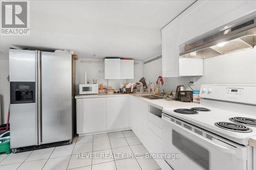
[[[77,133],[106,130],[106,99],[76,99]]]

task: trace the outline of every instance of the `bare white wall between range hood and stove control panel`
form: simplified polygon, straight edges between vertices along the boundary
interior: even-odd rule
[[[204,60],[201,84],[256,84],[256,48]]]

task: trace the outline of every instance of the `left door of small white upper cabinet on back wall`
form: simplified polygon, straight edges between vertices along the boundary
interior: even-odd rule
[[[120,79],[120,59],[104,59],[104,78]]]

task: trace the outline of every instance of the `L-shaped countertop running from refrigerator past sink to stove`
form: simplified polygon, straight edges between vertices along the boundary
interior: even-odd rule
[[[143,98],[142,95],[144,94],[135,94],[135,93],[130,93],[130,94],[123,94],[123,93],[114,93],[114,94],[107,94],[107,93],[103,93],[103,94],[79,94],[75,96],[75,99],[87,99],[87,98],[108,98],[108,97],[117,97],[117,96],[133,96],[136,97],[138,99],[141,99],[145,102],[147,102],[148,104],[163,110],[164,108],[171,108],[171,107],[179,107],[179,106],[196,106],[198,104],[193,103],[193,102],[180,102],[180,101],[175,101],[175,100],[170,100],[170,101],[166,101],[164,99],[155,99],[155,100],[151,100],[151,99],[146,99]],[[147,95],[147,94],[145,94]]]

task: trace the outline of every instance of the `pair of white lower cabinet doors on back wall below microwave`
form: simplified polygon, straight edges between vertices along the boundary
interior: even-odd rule
[[[131,128],[130,96],[76,99],[77,134]]]

